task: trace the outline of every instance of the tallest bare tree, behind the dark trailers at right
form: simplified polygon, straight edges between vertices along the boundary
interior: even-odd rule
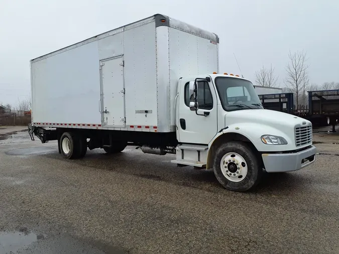
[[[303,51],[296,53],[288,54],[289,62],[286,65],[286,78],[284,80],[285,84],[290,87],[291,91],[296,95],[296,104],[299,104],[299,97],[305,90],[307,90],[307,85],[309,84],[306,63],[306,52]],[[305,93],[304,93],[305,95]]]

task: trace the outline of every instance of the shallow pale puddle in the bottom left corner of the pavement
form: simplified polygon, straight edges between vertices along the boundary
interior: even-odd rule
[[[16,253],[42,238],[44,238],[42,234],[27,232],[27,229],[19,232],[0,231],[0,253]]]

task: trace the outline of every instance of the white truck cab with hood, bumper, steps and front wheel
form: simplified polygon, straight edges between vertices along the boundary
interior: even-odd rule
[[[175,109],[172,162],[213,168],[227,189],[246,191],[263,169],[296,171],[315,160],[311,122],[264,109],[251,81],[238,75],[180,78]]]

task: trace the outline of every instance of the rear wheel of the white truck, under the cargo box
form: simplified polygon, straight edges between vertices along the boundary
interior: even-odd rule
[[[60,138],[60,150],[66,159],[77,159],[80,155],[80,139],[74,133],[65,132]]]

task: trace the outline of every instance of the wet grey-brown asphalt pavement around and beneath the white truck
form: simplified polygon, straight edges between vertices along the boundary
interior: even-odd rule
[[[236,193],[172,155],[70,161],[18,133],[0,141],[0,253],[339,253],[339,134],[314,141],[312,166]]]

